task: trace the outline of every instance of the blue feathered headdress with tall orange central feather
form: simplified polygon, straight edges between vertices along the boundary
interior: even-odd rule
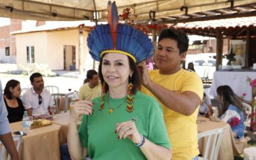
[[[87,44],[92,58],[100,61],[103,54],[115,52],[125,54],[136,63],[153,56],[154,46],[142,31],[126,24],[118,24],[115,1],[108,1],[108,24],[100,24],[93,29]]]

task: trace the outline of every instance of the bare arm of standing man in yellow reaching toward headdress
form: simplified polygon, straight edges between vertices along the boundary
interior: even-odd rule
[[[164,104],[164,106],[186,116],[195,112],[195,109],[201,102],[200,97],[196,93],[190,91],[177,93],[175,91],[168,90],[150,79],[145,64],[140,63],[140,66],[142,67],[140,68],[142,84],[152,92],[157,99]]]

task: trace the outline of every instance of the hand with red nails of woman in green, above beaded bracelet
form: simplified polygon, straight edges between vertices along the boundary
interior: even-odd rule
[[[121,138],[125,139],[127,137],[133,143],[140,143],[141,141],[140,132],[138,132],[136,125],[132,121],[116,124],[115,133],[118,133],[118,140]]]

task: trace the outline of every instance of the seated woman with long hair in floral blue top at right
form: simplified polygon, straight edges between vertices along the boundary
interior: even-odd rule
[[[227,85],[217,88],[217,97],[220,102],[218,117],[230,124],[234,138],[243,138],[246,116],[239,97]]]

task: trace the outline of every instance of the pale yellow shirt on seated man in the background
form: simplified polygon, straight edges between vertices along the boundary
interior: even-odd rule
[[[92,100],[101,96],[101,84],[94,88],[89,87],[89,83],[83,84],[79,89],[79,100]]]

